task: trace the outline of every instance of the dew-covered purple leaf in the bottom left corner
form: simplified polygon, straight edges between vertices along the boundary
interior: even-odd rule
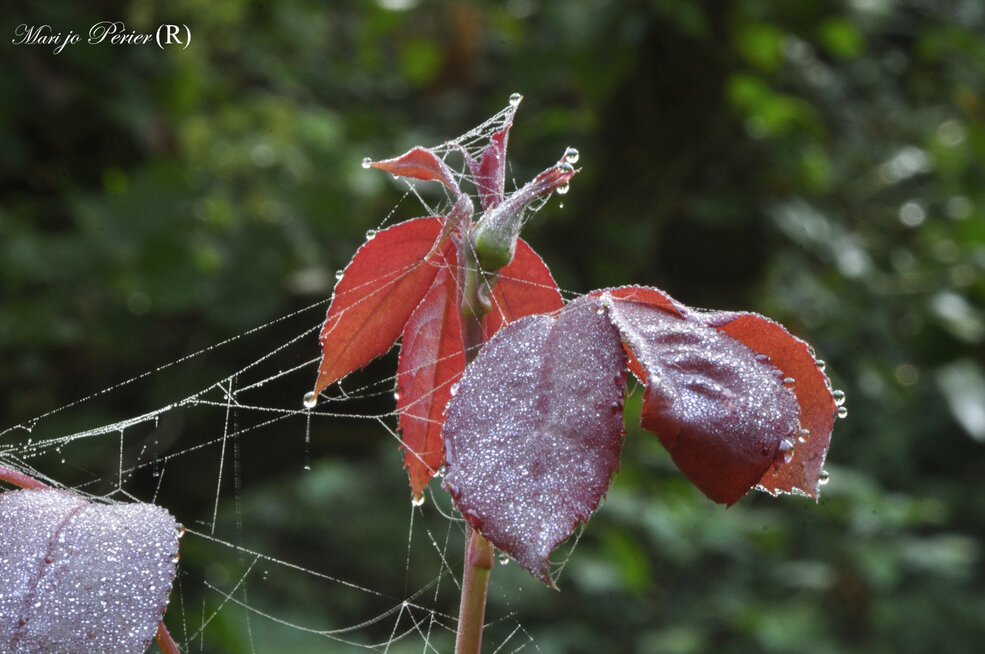
[[[178,555],[174,518],[58,490],[0,495],[0,651],[130,654],[150,644]]]

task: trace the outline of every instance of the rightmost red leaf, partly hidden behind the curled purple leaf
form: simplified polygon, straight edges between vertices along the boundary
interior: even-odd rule
[[[831,383],[818,367],[810,346],[782,325],[756,314],[716,313],[701,318],[756,352],[765,354],[770,363],[783,371],[784,377],[794,380],[801,432],[793,458],[767,471],[759,480],[759,486],[773,495],[799,492],[818,497],[821,469],[831,443],[837,406],[831,394]]]

